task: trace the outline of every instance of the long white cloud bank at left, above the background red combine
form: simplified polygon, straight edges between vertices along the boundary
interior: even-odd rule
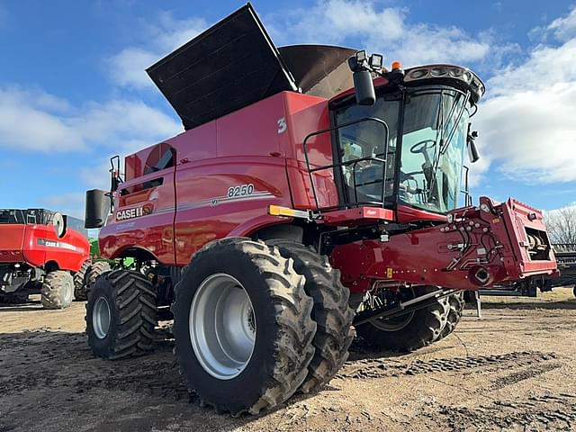
[[[74,107],[41,90],[0,87],[0,147],[76,151],[118,148],[133,139],[165,138],[181,130],[166,113],[139,100]]]

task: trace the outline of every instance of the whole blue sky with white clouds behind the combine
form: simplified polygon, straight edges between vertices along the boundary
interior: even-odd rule
[[[107,158],[180,128],[144,68],[241,2],[0,0],[0,207],[78,216]],[[332,43],[404,65],[452,62],[488,85],[473,193],[576,202],[576,3],[253,2],[277,45]]]

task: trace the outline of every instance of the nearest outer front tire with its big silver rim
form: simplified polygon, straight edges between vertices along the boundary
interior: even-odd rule
[[[296,392],[316,332],[304,283],[292,259],[248,238],[194,255],[175,288],[175,356],[202,405],[258,414]]]

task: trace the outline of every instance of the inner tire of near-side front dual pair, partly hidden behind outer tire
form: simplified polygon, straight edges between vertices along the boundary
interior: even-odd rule
[[[312,320],[316,321],[314,336],[316,352],[302,383],[303,393],[319,390],[338,373],[348,358],[348,347],[354,339],[354,311],[348,306],[349,291],[340,282],[340,272],[330,266],[328,257],[311,247],[290,240],[269,240],[284,258],[292,258],[294,270],[306,278],[304,291],[314,300]]]

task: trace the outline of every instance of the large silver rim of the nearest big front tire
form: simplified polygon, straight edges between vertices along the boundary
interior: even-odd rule
[[[194,294],[190,341],[202,368],[230,380],[246,368],[256,344],[256,317],[245,288],[230,275],[206,278]]]

